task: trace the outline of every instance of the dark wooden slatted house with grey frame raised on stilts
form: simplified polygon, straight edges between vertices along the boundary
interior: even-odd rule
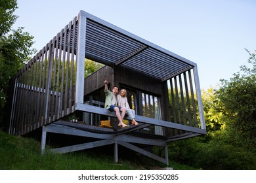
[[[104,67],[85,78],[85,58]],[[115,127],[104,108],[106,79],[127,90],[140,125]],[[54,152],[113,144],[115,162],[121,145],[168,165],[168,143],[206,134],[196,63],[83,10],[17,73],[12,93],[9,133],[40,129],[42,152],[47,133],[58,133],[93,140]]]

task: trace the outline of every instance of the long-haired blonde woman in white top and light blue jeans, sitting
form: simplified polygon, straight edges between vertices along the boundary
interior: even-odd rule
[[[122,89],[122,90],[120,90],[119,94],[117,95],[118,107],[126,109],[125,114],[127,114],[129,116],[129,118],[131,118],[131,125],[139,125],[135,120],[135,110],[133,110],[129,107],[126,93],[127,93],[126,90]]]

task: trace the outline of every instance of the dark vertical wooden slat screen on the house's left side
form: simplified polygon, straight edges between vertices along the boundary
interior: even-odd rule
[[[77,17],[16,75],[11,133],[24,135],[74,112]]]

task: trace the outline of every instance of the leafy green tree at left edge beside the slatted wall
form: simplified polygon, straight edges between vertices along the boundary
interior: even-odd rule
[[[16,0],[0,0],[0,5],[0,117],[2,117],[9,80],[30,59],[35,49],[32,49],[33,36],[28,32],[22,32],[24,27],[11,29],[18,18],[13,14],[18,8]]]

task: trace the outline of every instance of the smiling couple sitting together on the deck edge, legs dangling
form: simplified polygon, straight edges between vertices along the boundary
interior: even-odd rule
[[[125,114],[127,114],[129,118],[131,118],[131,125],[139,125],[135,120],[135,110],[129,107],[129,103],[126,97],[126,90],[122,89],[118,94],[119,88],[117,86],[114,86],[112,88],[112,92],[110,92],[110,90],[108,90],[108,80],[105,80],[104,84],[104,92],[106,95],[105,108],[108,108],[108,110],[110,110],[111,112],[116,112],[117,119],[119,120],[118,126],[127,126],[123,123],[123,118],[125,117]]]

